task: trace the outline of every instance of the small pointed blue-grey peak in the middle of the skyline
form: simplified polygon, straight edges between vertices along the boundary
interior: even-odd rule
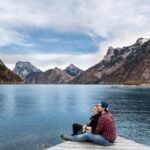
[[[64,71],[74,77],[79,76],[81,73],[83,73],[83,70],[79,69],[73,64],[69,65]]]

